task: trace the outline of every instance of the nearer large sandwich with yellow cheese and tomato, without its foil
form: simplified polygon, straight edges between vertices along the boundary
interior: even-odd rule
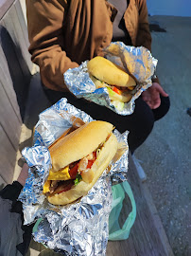
[[[116,154],[113,125],[92,121],[61,137],[49,148],[52,169],[43,193],[53,205],[66,205],[86,195]]]

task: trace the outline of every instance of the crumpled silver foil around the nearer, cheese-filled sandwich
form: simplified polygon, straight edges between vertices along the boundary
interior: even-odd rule
[[[43,184],[51,167],[47,147],[74,123],[80,126],[81,120],[93,119],[64,98],[43,111],[35,127],[33,146],[22,152],[29,174],[19,200],[23,202],[25,225],[42,219],[33,233],[35,241],[63,255],[105,255],[112,184],[127,179],[128,132],[121,135],[114,130],[120,145],[117,154],[91,191],[78,202],[54,206],[43,195]]]

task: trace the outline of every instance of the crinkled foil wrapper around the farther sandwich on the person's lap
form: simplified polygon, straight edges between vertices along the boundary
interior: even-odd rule
[[[151,77],[154,74],[158,61],[152,57],[146,47],[126,46],[122,42],[111,43],[110,46],[104,49],[104,53],[105,58],[112,61],[114,64],[120,65],[127,73],[131,74],[137,82],[137,85],[131,91],[131,100],[125,103],[122,108],[113,105],[107,88],[96,89],[95,83],[90,79],[88,74],[88,61],[80,64],[76,68],[68,69],[63,74],[64,82],[77,98],[84,98],[87,101],[104,105],[119,115],[130,115],[134,111],[134,101],[143,91],[147,90],[148,87],[152,85]]]

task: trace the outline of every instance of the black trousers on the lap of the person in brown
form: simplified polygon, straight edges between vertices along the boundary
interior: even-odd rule
[[[131,153],[146,140],[152,131],[154,122],[163,118],[170,106],[169,98],[161,97],[161,105],[157,109],[151,110],[148,104],[139,97],[135,101],[134,112],[129,116],[121,116],[105,106],[100,106],[94,102],[85,101],[83,99],[77,99],[69,92],[57,92],[46,89],[44,86],[43,90],[51,103],[56,103],[61,100],[61,98],[66,98],[70,104],[83,110],[93,119],[113,123],[120,133],[124,133],[127,130],[130,131],[128,142]]]

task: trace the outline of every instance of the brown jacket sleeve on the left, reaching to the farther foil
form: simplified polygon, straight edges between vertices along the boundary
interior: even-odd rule
[[[26,0],[29,52],[33,63],[40,66],[43,84],[64,91],[63,73],[77,67],[63,50],[63,18],[67,0]]]

